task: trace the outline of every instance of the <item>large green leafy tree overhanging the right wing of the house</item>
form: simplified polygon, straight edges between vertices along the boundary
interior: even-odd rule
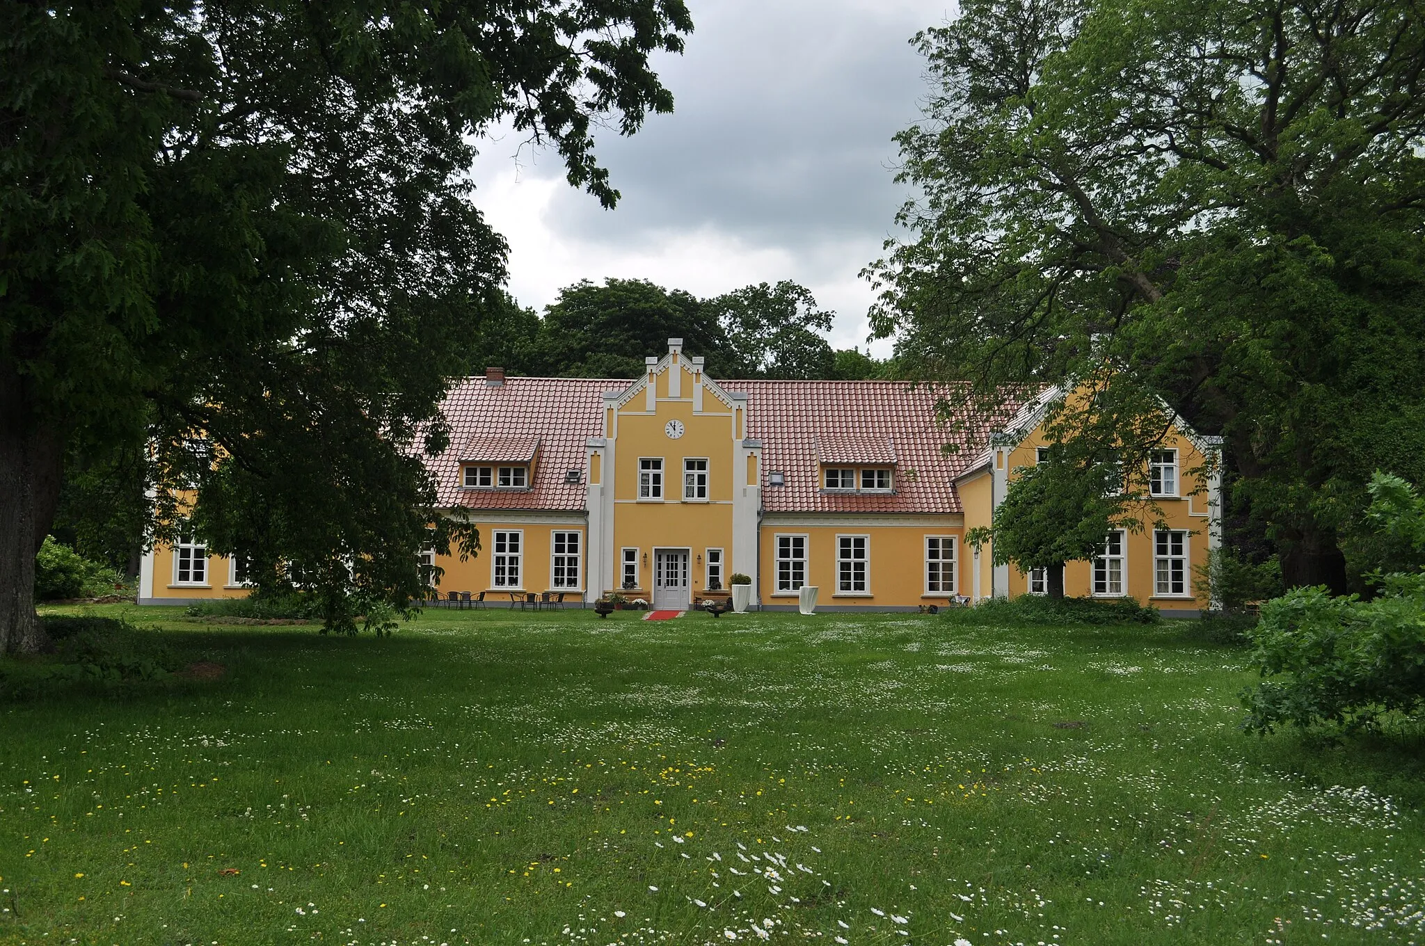
[[[902,369],[1092,380],[1092,436],[1161,396],[1226,436],[1287,581],[1344,590],[1369,473],[1425,473],[1418,4],[969,0],[916,41],[922,198],[871,268]]]

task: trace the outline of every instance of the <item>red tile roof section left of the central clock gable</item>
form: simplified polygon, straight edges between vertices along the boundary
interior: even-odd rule
[[[603,392],[627,388],[627,380],[601,378],[506,378],[490,386],[483,376],[465,378],[442,405],[450,425],[450,449],[426,457],[436,479],[437,504],[443,509],[532,509],[581,511],[589,486],[584,442],[603,436]],[[539,462],[527,490],[460,489],[460,460],[467,449],[493,452],[497,445],[532,452]],[[487,459],[487,457],[470,457]],[[564,474],[579,470],[579,483]]]

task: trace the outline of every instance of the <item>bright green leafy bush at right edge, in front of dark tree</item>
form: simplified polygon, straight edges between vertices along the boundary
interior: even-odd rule
[[[1425,708],[1425,574],[1382,578],[1382,594],[1334,598],[1321,587],[1268,601],[1247,637],[1267,678],[1244,691],[1245,725],[1374,725]]]

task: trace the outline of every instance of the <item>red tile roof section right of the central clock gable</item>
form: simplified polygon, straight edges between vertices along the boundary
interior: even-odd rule
[[[993,422],[952,430],[938,416],[943,388],[888,380],[728,380],[747,395],[748,436],[762,442],[762,507],[770,513],[960,513],[953,479],[989,442]],[[1006,405],[1013,413],[1019,405]],[[946,443],[958,450],[945,453]],[[825,493],[818,457],[895,463],[893,493]],[[864,456],[865,459],[851,459]],[[842,459],[845,457],[845,459]],[[768,486],[781,472],[785,486]]]

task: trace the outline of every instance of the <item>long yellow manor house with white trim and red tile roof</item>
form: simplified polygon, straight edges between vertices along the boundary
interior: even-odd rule
[[[530,593],[570,603],[607,591],[685,610],[735,573],[762,608],[918,610],[1042,594],[1043,570],[993,566],[966,549],[1016,467],[1037,462],[1062,389],[1003,427],[936,415],[935,389],[903,382],[717,382],[683,352],[634,382],[504,378],[492,368],[445,402],[450,449],[429,460],[443,509],[469,510],[482,551],[425,557],[440,590],[486,603]],[[945,450],[953,442],[958,449]],[[1188,615],[1208,605],[1193,566],[1220,541],[1220,440],[1176,422],[1146,476],[1166,529],[1116,530],[1064,568],[1066,594],[1131,596]],[[235,563],[198,540],[155,547],[140,604],[247,594]]]

